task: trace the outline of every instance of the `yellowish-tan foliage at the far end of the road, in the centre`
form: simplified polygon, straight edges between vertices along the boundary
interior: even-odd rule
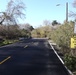
[[[51,32],[51,26],[46,25],[46,26],[42,26],[37,29],[34,29],[31,32],[31,35],[32,37],[35,37],[35,38],[46,38],[50,35],[50,32]]]

